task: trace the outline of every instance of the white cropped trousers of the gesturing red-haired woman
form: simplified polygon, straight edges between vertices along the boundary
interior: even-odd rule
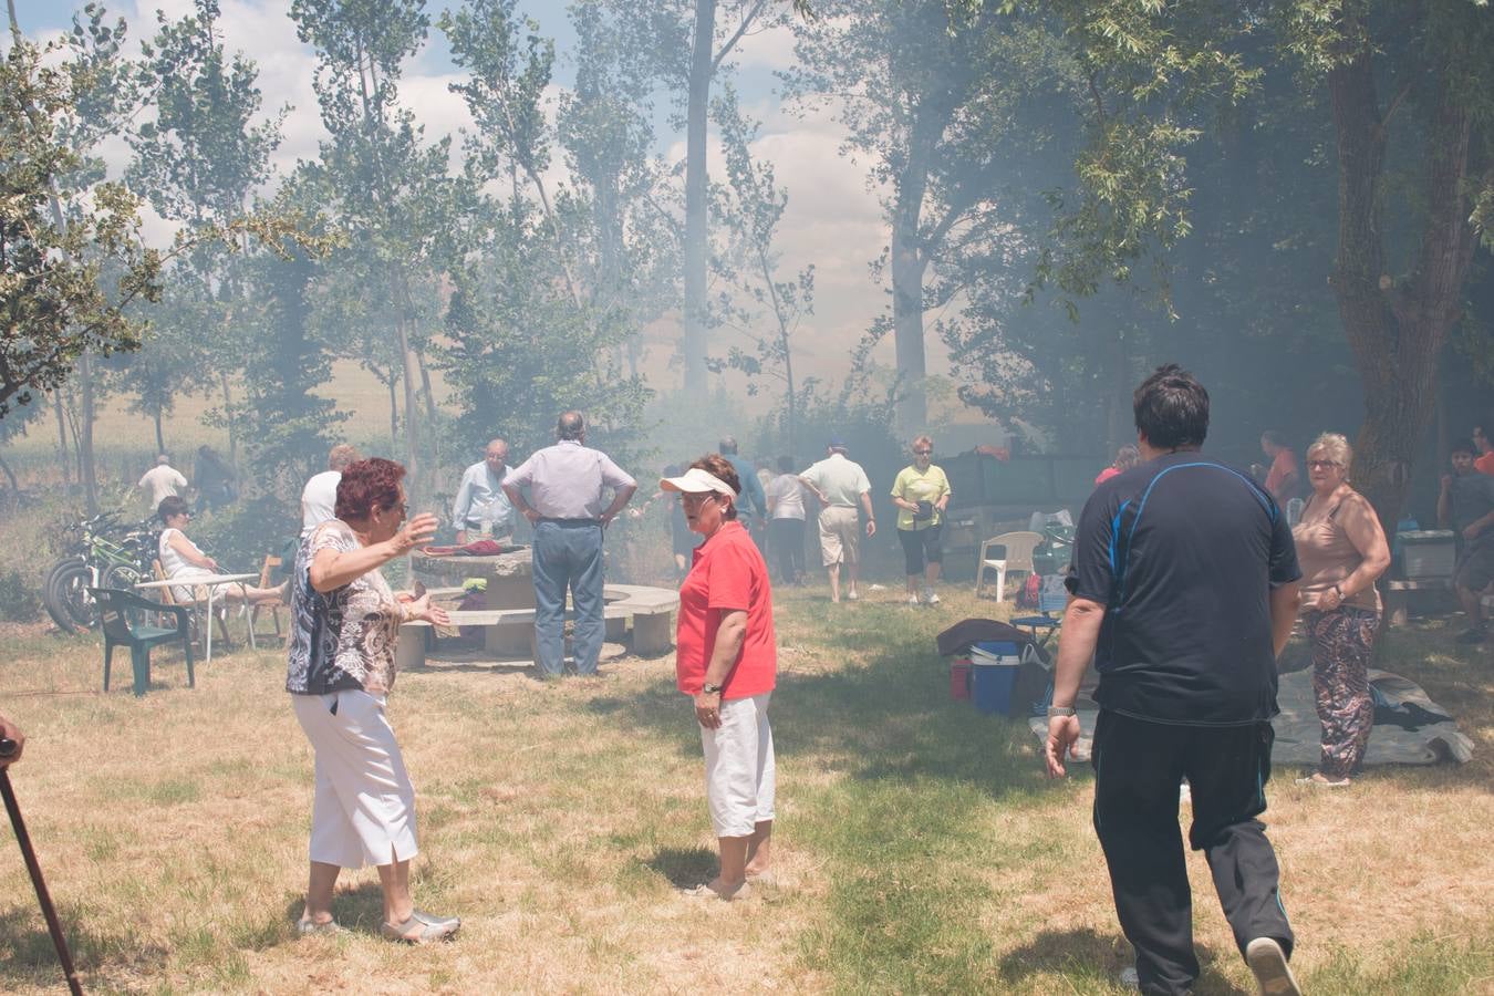
[[[311,860],[363,868],[412,859],[415,787],[384,717],[384,696],[333,691],[293,694],[291,702],[317,754]]]

